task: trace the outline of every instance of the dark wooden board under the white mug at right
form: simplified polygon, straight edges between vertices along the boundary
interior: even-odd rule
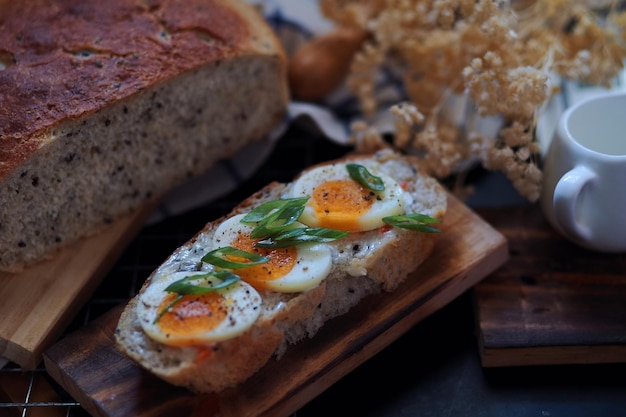
[[[511,253],[474,288],[483,366],[626,362],[626,254],[570,243],[537,204],[479,213]]]

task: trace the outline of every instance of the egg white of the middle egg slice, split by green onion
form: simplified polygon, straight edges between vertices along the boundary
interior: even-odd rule
[[[249,234],[253,226],[241,223],[244,214],[224,221],[215,231],[214,246],[230,246],[239,233]],[[296,223],[295,227],[303,224]],[[296,263],[287,274],[280,278],[264,281],[268,289],[277,292],[306,291],[319,285],[330,272],[332,256],[328,245],[307,243],[296,246]],[[233,271],[237,273],[237,271]]]

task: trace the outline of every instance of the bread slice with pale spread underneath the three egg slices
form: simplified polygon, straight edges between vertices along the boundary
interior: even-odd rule
[[[338,161],[380,162],[382,172],[402,183],[412,197],[408,213],[443,219],[446,193],[437,181],[420,172],[417,159],[384,150],[371,155],[354,154]],[[337,161],[329,161],[332,162]],[[229,215],[208,223],[151,274],[140,294],[168,274],[197,270],[201,257],[213,249],[213,235],[225,218],[284,198],[292,186],[293,182],[269,184]],[[289,345],[313,337],[324,323],[346,313],[364,297],[395,290],[430,255],[436,236],[394,227],[354,232],[334,241],[329,244],[333,260],[330,273],[317,287],[298,293],[261,292],[262,312],[253,327],[242,336],[209,345],[176,347],[151,339],[137,315],[137,295],[120,317],[116,344],[158,377],[193,392],[208,393],[236,386],[272,356],[280,359]]]

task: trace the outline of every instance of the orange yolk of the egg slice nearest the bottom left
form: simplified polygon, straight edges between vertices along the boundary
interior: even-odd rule
[[[176,294],[163,299],[158,311],[165,310]],[[211,291],[199,295],[185,295],[158,321],[161,331],[168,336],[201,334],[216,328],[228,315],[224,297]],[[194,344],[189,341],[186,344]]]

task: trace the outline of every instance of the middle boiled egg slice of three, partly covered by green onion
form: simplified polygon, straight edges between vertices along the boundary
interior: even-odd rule
[[[257,248],[250,239],[253,226],[241,223],[243,214],[233,216],[218,226],[214,246],[232,246],[258,253],[268,262],[234,270],[258,290],[299,292],[314,288],[326,278],[332,266],[330,249],[322,243],[306,243],[287,248]],[[296,223],[295,226],[304,225]]]

